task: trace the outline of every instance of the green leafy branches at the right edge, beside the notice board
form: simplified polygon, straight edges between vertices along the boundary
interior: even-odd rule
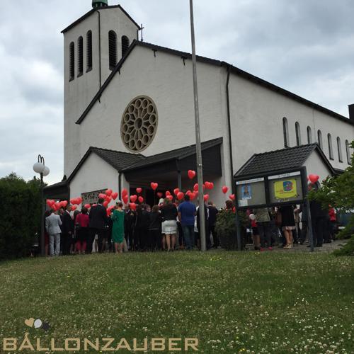
[[[354,149],[354,141],[350,144]],[[322,182],[321,188],[309,192],[309,200],[317,200],[322,205],[336,208],[341,212],[354,210],[354,152],[351,156],[351,165],[339,176],[328,177]],[[354,214],[338,238],[351,236],[350,240],[341,250],[335,251],[336,255],[354,256]]]

